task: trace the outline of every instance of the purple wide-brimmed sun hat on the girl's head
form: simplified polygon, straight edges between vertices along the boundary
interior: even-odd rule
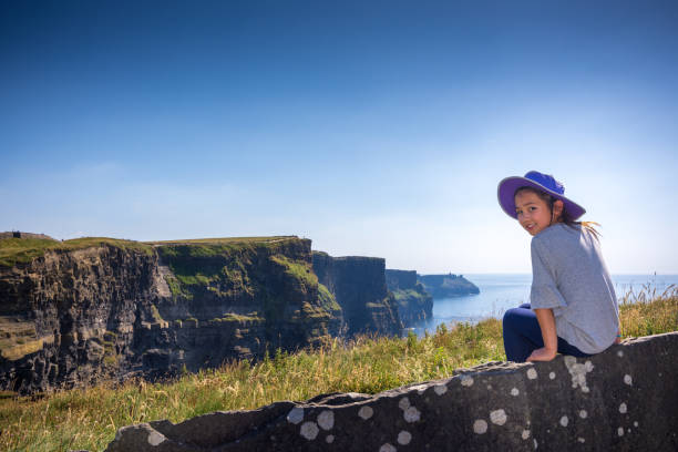
[[[565,186],[552,175],[542,174],[538,171],[531,171],[525,174],[525,177],[506,177],[499,184],[496,196],[499,197],[502,209],[504,209],[510,217],[517,219],[517,214],[515,213],[515,191],[521,187],[536,188],[548,193],[556,199],[561,199],[564,204],[565,212],[569,214],[573,220],[586,213],[584,207],[565,197]]]

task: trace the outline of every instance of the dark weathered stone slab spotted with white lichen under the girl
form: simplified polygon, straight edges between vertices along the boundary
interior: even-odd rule
[[[678,332],[657,335],[376,396],[143,423],[120,429],[106,451],[676,451],[676,350]]]

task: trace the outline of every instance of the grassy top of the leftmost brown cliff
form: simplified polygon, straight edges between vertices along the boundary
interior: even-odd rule
[[[0,239],[0,266],[12,267],[16,264],[30,263],[48,250],[76,250],[104,245],[153,254],[151,245],[109,237],[83,237],[64,242],[45,238],[3,238]]]

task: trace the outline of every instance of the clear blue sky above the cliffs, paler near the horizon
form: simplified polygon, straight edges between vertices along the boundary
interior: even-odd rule
[[[528,273],[496,184],[538,170],[678,274],[678,6],[543,3],[2,2],[0,230]]]

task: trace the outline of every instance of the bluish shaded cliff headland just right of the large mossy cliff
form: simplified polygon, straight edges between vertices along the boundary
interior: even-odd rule
[[[386,259],[314,251],[314,271],[341,306],[347,335],[400,335],[402,323],[386,285]]]

